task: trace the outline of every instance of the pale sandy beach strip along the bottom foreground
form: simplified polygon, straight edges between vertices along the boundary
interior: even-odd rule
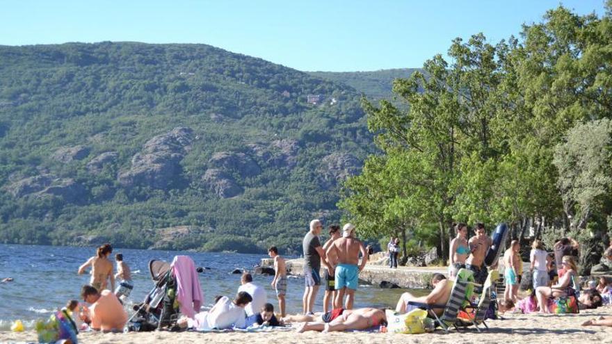
[[[209,333],[196,332],[141,332],[129,334],[79,334],[79,343],[612,343],[612,327],[581,327],[580,323],[597,316],[612,315],[611,307],[581,311],[580,314],[538,315],[506,314],[505,320],[489,320],[490,329],[483,333],[474,327],[452,330],[450,334],[438,329],[435,334],[380,334],[348,332],[320,334],[309,331],[298,334],[295,330],[266,333]],[[36,342],[34,331],[13,333],[0,331],[0,343]]]

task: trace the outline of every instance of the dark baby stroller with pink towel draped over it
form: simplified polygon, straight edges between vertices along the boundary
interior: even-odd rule
[[[200,295],[199,299],[198,297],[193,298],[193,304],[199,309],[202,301],[202,291],[193,260],[188,256],[175,256],[172,264],[152,260],[149,262],[149,271],[154,287],[141,304],[134,306],[136,313],[128,319],[127,331],[177,329],[177,320],[181,313],[179,308],[184,309],[177,300],[177,295],[184,294],[185,290],[196,289],[191,285],[193,279],[195,279],[193,284],[197,287],[197,290],[193,292]],[[179,274],[188,275],[191,279],[181,278]],[[198,299],[197,303],[195,299]]]

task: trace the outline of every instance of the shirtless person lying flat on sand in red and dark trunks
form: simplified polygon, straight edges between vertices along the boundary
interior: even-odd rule
[[[383,309],[360,308],[346,309],[331,322],[304,322],[298,327],[298,332],[305,331],[346,331],[347,329],[369,329],[387,325],[387,316]]]

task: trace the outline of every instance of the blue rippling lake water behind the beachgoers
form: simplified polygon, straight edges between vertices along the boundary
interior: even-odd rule
[[[172,261],[179,254],[191,256],[196,266],[210,268],[200,274],[204,292],[204,308],[209,308],[215,295],[233,297],[240,285],[240,275],[232,275],[234,268],[250,270],[262,258],[259,254],[204,253],[156,251],[145,249],[113,249],[122,253],[124,261],[132,270],[134,290],[131,302],[140,302],[153,288],[148,262],[151,259]],[[32,320],[47,318],[51,311],[61,308],[70,299],[79,300],[83,284],[88,284],[89,275],[77,275],[79,265],[95,254],[95,247],[61,247],[35,245],[0,244],[0,279],[13,277],[15,281],[0,284],[0,327],[10,320]],[[291,258],[291,257],[290,257]],[[277,308],[276,294],[270,283],[272,276],[254,275],[255,284],[264,286],[268,302]],[[381,289],[360,285],[355,297],[355,307],[378,306],[394,308],[403,289]],[[287,312],[301,313],[304,279],[289,277],[287,285]],[[315,303],[315,311],[323,310],[323,292]]]

